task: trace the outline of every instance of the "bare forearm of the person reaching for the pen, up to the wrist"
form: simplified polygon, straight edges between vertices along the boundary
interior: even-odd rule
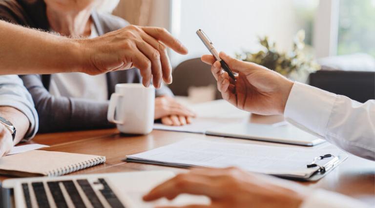
[[[74,39],[0,21],[0,75],[82,71]]]

